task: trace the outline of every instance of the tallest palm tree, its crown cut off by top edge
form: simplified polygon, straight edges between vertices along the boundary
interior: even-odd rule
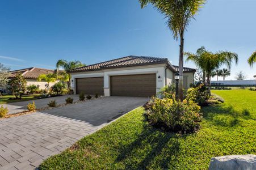
[[[206,0],[139,0],[141,8],[151,3],[165,18],[167,25],[173,32],[175,40],[180,40],[179,45],[179,99],[183,100],[183,49],[184,31],[191,19],[194,19]]]

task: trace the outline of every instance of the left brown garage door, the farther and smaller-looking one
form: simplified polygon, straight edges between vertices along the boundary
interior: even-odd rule
[[[83,92],[86,95],[103,95],[103,77],[76,79],[77,94]]]

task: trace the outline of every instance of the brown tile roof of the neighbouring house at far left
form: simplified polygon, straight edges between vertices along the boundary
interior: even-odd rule
[[[10,71],[11,75],[9,78],[14,78],[17,74],[22,74],[24,78],[26,79],[37,79],[37,77],[40,74],[49,74],[49,73],[55,73],[54,70],[49,69],[41,69],[36,67],[30,67],[27,69],[20,69],[20,70],[14,70]]]

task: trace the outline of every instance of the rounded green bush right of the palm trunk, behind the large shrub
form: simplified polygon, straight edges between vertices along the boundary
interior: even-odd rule
[[[200,106],[209,105],[208,99],[210,97],[208,87],[202,83],[196,87],[189,88],[187,90],[186,99],[192,100],[198,103]]]

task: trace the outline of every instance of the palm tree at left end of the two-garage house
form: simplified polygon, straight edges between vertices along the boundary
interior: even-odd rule
[[[70,89],[70,81],[71,81],[71,74],[68,73],[69,70],[78,68],[78,67],[83,67],[86,66],[80,61],[66,61],[65,59],[59,59],[56,63],[57,67],[57,78],[64,81],[68,82],[68,88]],[[62,67],[64,71],[58,71]]]

